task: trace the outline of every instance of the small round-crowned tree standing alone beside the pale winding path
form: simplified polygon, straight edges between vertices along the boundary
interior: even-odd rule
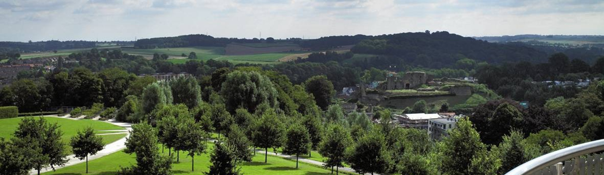
[[[71,147],[76,158],[83,160],[86,158],[86,173],[88,173],[88,155],[97,154],[103,150],[103,138],[94,134],[92,127],[86,128],[84,132],[77,132],[77,135],[71,138]]]

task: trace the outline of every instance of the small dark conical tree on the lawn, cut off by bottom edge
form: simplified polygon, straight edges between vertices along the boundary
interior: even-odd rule
[[[210,155],[210,171],[205,173],[207,175],[238,175],[241,174],[237,164],[237,158],[233,152],[233,148],[228,147],[226,144],[220,142],[214,142],[214,152]]]

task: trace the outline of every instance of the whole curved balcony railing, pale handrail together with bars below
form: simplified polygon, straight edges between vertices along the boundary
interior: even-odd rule
[[[604,150],[604,139],[574,145],[528,161],[507,172],[506,175],[604,174],[604,154],[592,155],[602,150]]]

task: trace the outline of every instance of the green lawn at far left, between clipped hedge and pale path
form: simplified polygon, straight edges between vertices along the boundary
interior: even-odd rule
[[[14,130],[17,129],[22,118],[6,118],[0,119],[0,137],[5,139],[13,138]],[[48,123],[57,123],[63,132],[61,137],[62,141],[68,143],[71,137],[76,135],[79,130],[84,130],[86,127],[91,126],[94,130],[124,130],[123,127],[115,126],[110,123],[103,121],[95,121],[91,119],[65,119],[56,117],[45,117]],[[97,132],[97,133],[111,133],[111,132]],[[118,135],[101,135],[105,144],[117,141],[123,138],[126,134]],[[68,146],[69,147],[69,146]],[[68,148],[71,153],[71,147]]]

